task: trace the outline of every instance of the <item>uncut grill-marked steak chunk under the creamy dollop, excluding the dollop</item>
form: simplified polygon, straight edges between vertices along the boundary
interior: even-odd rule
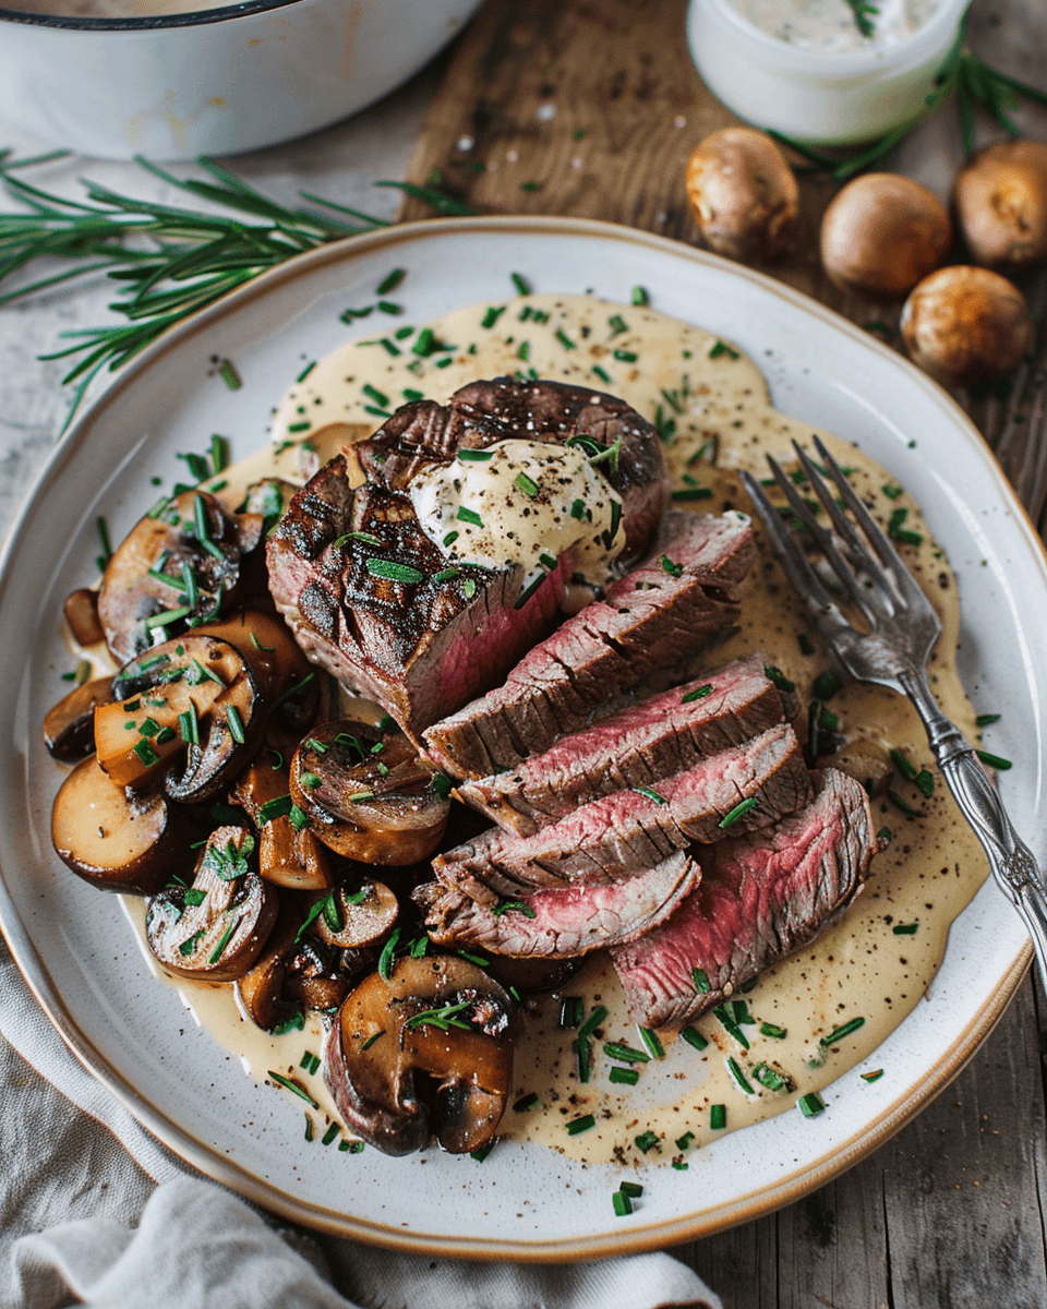
[[[497,686],[551,631],[569,560],[561,558],[516,609],[524,568],[459,564],[446,576],[446,559],[419,526],[404,487],[421,463],[449,462],[462,446],[575,435],[601,446],[622,440],[607,478],[623,497],[619,562],[637,558],[669,496],[650,424],[622,401],[584,387],[474,382],[446,407],[404,406],[357,445],[365,486],[352,487],[336,457],[292,499],[267,547],[270,590],[306,654],[378,700],[416,741],[438,717]]]

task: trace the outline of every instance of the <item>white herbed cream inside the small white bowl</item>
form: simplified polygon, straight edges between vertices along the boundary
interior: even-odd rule
[[[921,27],[938,0],[732,0],[760,31],[804,50],[879,50]]]

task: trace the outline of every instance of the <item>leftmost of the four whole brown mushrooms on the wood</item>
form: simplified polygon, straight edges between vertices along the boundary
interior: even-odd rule
[[[800,188],[785,156],[751,127],[725,127],[700,141],[687,164],[687,199],[717,254],[766,262],[796,228]]]

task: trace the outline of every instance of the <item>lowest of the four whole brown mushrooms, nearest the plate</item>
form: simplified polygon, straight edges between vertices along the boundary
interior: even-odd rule
[[[944,386],[970,386],[1013,368],[1033,344],[1018,288],[988,268],[940,268],[902,309],[910,359]]]

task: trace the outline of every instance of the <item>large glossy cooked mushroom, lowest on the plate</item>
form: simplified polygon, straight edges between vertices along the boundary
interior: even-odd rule
[[[512,1000],[462,958],[400,959],[346,1000],[325,1079],[349,1127],[386,1155],[431,1136],[453,1155],[486,1145],[513,1076]]]

